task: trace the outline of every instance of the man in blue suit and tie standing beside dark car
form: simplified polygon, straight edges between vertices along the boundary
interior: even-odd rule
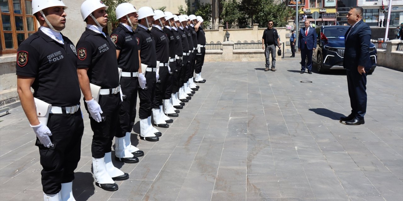
[[[298,51],[301,51],[301,74],[305,72],[305,58],[308,57],[308,73],[312,74],[312,53],[316,49],[316,31],[309,26],[306,20],[305,27],[299,30]]]

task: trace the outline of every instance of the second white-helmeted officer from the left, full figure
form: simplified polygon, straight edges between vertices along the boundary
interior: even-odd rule
[[[77,73],[94,132],[91,154],[95,182],[106,191],[116,191],[118,185],[114,180],[126,180],[129,174],[114,167],[111,160],[121,97],[116,47],[102,32],[108,22],[106,9],[108,6],[99,0],[86,0],[81,4],[81,16],[87,28],[77,43]]]

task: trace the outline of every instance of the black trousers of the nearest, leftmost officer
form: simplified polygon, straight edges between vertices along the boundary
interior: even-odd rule
[[[49,114],[48,127],[54,146],[46,148],[37,144],[43,168],[42,189],[46,194],[56,194],[61,189],[61,183],[73,181],[74,170],[80,160],[84,132],[81,110],[74,114],[66,114],[65,111],[64,114]]]

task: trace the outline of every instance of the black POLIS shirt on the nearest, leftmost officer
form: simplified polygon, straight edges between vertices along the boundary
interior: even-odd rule
[[[42,28],[43,29],[43,28]],[[35,78],[33,96],[52,106],[80,103],[77,55],[73,43],[62,36],[58,43],[41,29],[21,43],[17,51],[17,75]]]

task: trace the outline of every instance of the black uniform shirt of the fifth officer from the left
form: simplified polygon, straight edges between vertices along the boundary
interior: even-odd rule
[[[166,33],[162,31],[161,27],[158,25],[153,25],[151,28],[151,35],[154,37],[157,53],[157,61],[161,63],[169,62],[169,41]]]

